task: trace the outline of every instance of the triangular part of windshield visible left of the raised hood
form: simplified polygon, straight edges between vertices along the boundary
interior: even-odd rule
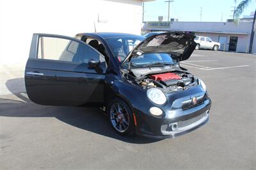
[[[143,37],[118,37],[108,38],[106,39],[106,42],[112,50],[115,59],[119,63],[122,63],[129,52],[131,52],[131,50],[134,49],[138,43],[143,41],[143,39]]]

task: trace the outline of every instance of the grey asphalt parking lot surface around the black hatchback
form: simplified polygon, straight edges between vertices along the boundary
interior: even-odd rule
[[[3,66],[0,169],[255,169],[255,59],[196,50],[183,61],[207,85],[210,120],[164,140],[122,137],[98,109],[34,104],[24,66]]]

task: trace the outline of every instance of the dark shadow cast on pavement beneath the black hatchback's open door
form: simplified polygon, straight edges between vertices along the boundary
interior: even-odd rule
[[[6,86],[12,92],[13,88],[11,87],[20,86],[22,82],[24,82],[24,78],[11,79],[6,82]],[[108,122],[108,118],[99,109],[38,105],[28,99],[26,92],[13,93],[13,95],[4,98],[0,97],[0,116],[25,118],[55,117],[74,127],[88,130],[95,134],[105,135],[126,143],[144,144],[159,141],[136,135],[131,137],[118,135]]]

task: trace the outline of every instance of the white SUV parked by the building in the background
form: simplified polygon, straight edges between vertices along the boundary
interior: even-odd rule
[[[212,50],[219,50],[220,49],[220,43],[213,42],[211,38],[206,36],[196,36],[195,38],[196,42],[196,50],[199,49],[212,49]]]

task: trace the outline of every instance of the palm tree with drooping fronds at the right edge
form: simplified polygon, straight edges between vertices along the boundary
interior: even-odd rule
[[[235,3],[237,0],[234,0]],[[244,12],[244,9],[252,2],[252,0],[243,0],[241,3],[238,4],[236,11],[235,11],[235,17],[236,20],[238,20],[239,16]],[[255,32],[255,18],[256,18],[256,9],[254,12],[254,17],[253,17],[253,23],[252,23],[252,32],[251,32],[251,37],[250,37],[250,45],[249,45],[249,53],[252,53],[252,45],[253,45],[253,38],[254,38],[254,32]]]

